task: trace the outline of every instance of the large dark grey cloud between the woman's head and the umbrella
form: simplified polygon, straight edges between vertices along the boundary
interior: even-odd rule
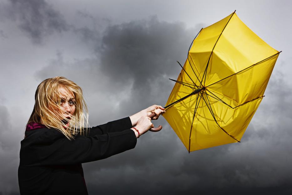
[[[177,79],[176,61],[184,63],[198,29],[156,17],[110,26],[102,39],[101,70],[120,84],[133,82],[131,105],[163,104],[162,94],[174,85],[168,78]]]

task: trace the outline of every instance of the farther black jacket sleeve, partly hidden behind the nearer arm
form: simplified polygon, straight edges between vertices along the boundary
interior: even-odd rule
[[[89,129],[89,134],[88,136],[92,137],[95,135],[101,135],[105,133],[111,133],[111,132],[119,132],[123,131],[125,129],[130,129],[132,128],[132,122],[130,117],[126,117],[123,119],[119,120],[114,120],[111,122],[108,122],[106,124],[98,125],[95,127],[92,127]]]

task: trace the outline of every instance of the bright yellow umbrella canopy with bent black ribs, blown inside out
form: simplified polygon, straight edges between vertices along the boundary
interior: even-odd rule
[[[235,12],[201,29],[163,114],[189,152],[240,142],[279,53]]]

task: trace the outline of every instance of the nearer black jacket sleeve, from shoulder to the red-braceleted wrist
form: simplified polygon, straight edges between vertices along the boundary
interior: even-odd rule
[[[96,161],[130,150],[136,146],[136,135],[133,130],[111,132],[93,137],[77,135],[68,140],[55,129],[55,136],[39,136],[37,141],[22,143],[20,152],[21,164],[28,166],[70,165]],[[25,159],[25,160],[24,160]]]

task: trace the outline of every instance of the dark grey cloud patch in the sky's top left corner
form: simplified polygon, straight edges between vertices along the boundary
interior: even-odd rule
[[[17,20],[19,28],[36,44],[45,36],[69,29],[62,14],[45,0],[9,0],[2,12],[6,18]]]

